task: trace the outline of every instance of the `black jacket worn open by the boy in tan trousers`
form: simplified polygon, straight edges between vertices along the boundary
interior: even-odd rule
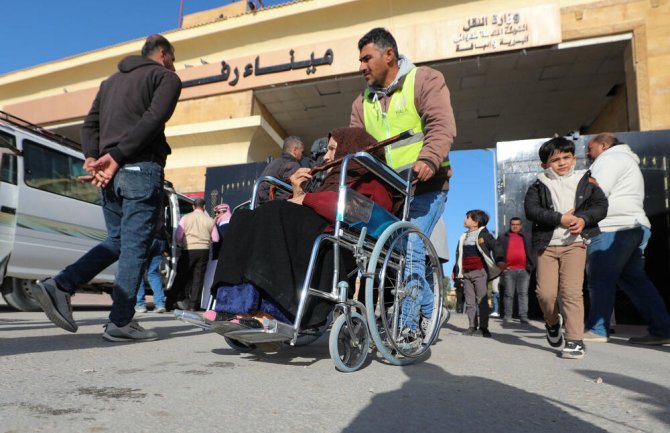
[[[584,219],[582,238],[598,235],[598,221],[607,216],[607,197],[590,171],[577,184],[574,208],[574,215]],[[533,222],[533,249],[540,253],[549,245],[554,229],[561,225],[562,214],[554,210],[549,188],[539,179],[528,188],[524,209],[526,218]]]

